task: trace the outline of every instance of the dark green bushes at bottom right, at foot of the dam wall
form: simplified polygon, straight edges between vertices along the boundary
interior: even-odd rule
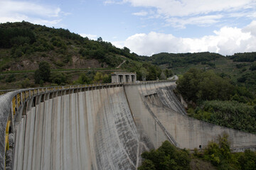
[[[178,149],[165,141],[158,149],[142,153],[143,162],[139,170],[167,170],[167,169],[194,169],[191,166],[193,160],[201,159],[201,168],[210,162],[210,169],[256,169],[256,152],[245,150],[245,152],[232,153],[228,135],[219,136],[217,142],[210,141],[203,150],[194,149],[190,154],[186,149]]]

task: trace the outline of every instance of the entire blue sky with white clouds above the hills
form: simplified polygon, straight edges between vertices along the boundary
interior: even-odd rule
[[[159,52],[256,51],[256,0],[0,0],[0,23],[28,21]]]

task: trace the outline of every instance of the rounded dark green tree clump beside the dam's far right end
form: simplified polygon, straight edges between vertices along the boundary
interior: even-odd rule
[[[235,87],[213,71],[190,69],[177,81],[177,89],[187,101],[228,100]]]

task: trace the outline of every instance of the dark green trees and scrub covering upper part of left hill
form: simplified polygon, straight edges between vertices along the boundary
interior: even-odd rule
[[[127,47],[119,49],[102,39],[89,40],[63,28],[48,28],[25,21],[0,25],[0,48],[11,49],[11,57],[14,59],[31,57],[38,53],[41,53],[41,57],[47,58],[51,52],[50,55],[56,57],[52,59],[55,60],[53,64],[56,67],[63,67],[72,62],[73,55],[83,59],[96,59],[109,67],[116,67],[122,62],[117,55],[137,60],[137,55],[130,53]],[[2,70],[7,67],[2,66]]]

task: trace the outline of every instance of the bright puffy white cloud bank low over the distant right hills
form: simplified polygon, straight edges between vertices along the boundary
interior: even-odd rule
[[[235,52],[256,51],[256,21],[245,28],[223,27],[214,35],[202,38],[177,38],[171,34],[151,32],[135,34],[127,38],[124,46],[138,55],[153,55],[159,52],[218,52],[233,55]]]

